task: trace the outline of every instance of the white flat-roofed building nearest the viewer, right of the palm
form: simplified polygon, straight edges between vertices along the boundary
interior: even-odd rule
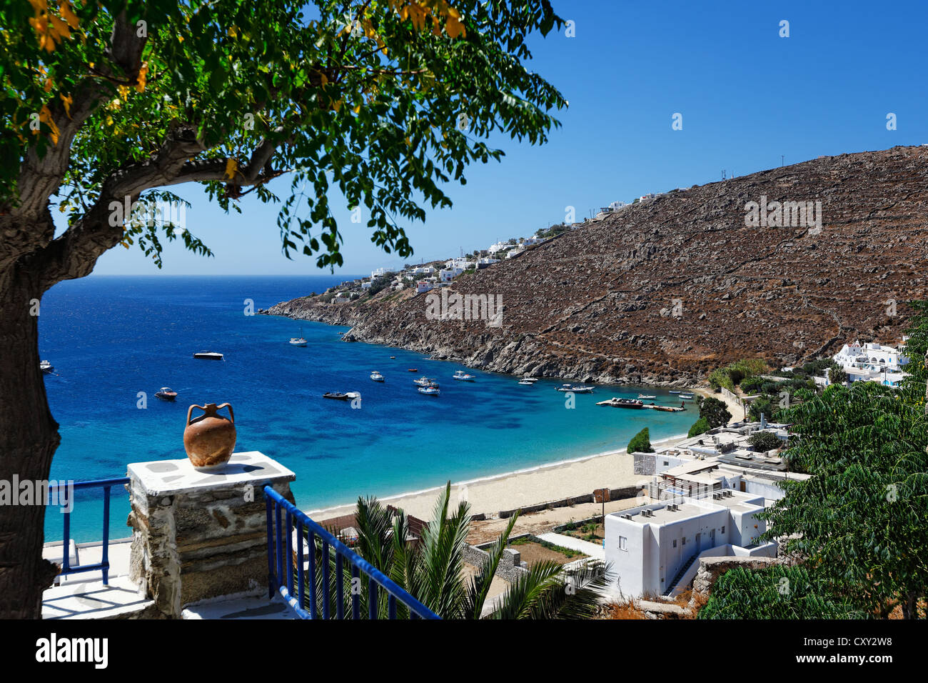
[[[762,495],[726,489],[606,515],[613,590],[630,598],[674,595],[692,581],[700,557],[776,557],[775,543],[758,542],[767,531],[757,518],[763,510]]]

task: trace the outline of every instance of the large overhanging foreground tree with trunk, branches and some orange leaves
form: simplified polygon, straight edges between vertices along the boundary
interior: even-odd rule
[[[450,206],[442,186],[464,184],[468,164],[498,161],[488,136],[547,140],[558,125],[549,112],[565,101],[525,68],[525,39],[561,19],[548,0],[454,4],[0,6],[11,122],[0,138],[0,479],[47,479],[58,446],[39,370],[45,291],[118,244],[159,267],[162,241],[211,255],[174,212],[140,216],[181,202],[170,189],[200,183],[226,211],[249,193],[279,201],[284,255],[334,267],[330,188],[363,205],[374,243],[410,256],[399,222]],[[281,201],[269,183],[285,175]],[[57,237],[53,208],[67,221]],[[40,613],[56,571],[41,558],[44,514],[0,508],[0,618]]]

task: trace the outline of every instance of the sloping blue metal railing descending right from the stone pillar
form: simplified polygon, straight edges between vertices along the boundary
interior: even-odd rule
[[[290,503],[270,485],[264,486],[264,500],[267,504],[267,588],[268,597],[277,592],[290,605],[301,619],[319,617],[319,601],[322,601],[322,618],[332,617],[332,603],[335,618],[345,618],[345,562],[351,568],[351,618],[361,618],[361,577],[367,576],[367,616],[377,619],[380,616],[380,590],[387,594],[386,611],[388,619],[396,618],[397,600],[409,611],[410,619],[440,619],[435,612],[409,595],[395,584],[386,574],[357,555],[338,538],[310,519],[306,513]],[[281,520],[281,517],[284,520]],[[296,557],[293,557],[293,532],[296,531]],[[305,535],[304,535],[305,532]],[[317,547],[318,538],[321,547]],[[304,546],[309,553],[308,576],[303,569]],[[318,557],[316,550],[320,550]],[[331,563],[334,560],[334,572]],[[293,571],[293,565],[296,571]],[[321,585],[318,565],[322,566]],[[335,591],[332,592],[332,574],[335,574]],[[295,576],[294,576],[295,574]],[[293,581],[296,581],[296,595],[293,595]],[[307,595],[308,593],[308,595]],[[309,609],[306,609],[308,603]]]

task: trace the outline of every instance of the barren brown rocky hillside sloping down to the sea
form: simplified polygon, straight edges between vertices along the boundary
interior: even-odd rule
[[[820,229],[746,226],[762,196],[820,202]],[[458,276],[449,294],[502,297],[499,327],[430,320],[429,295],[409,289],[263,312],[490,371],[683,383],[745,356],[784,364],[855,337],[897,341],[904,302],[928,296],[926,211],[928,147],[819,157],[674,190]]]

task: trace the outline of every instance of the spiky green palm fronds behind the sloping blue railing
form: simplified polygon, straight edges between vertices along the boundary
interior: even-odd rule
[[[449,481],[435,502],[432,521],[423,528],[422,537],[415,545],[407,542],[409,521],[405,512],[388,509],[373,497],[358,498],[355,510],[358,541],[354,550],[443,619],[480,619],[518,513],[509,519],[506,530],[487,549],[489,558],[483,566],[465,581],[470,505],[462,502],[449,511],[450,495]],[[316,558],[317,562],[323,560],[320,545],[316,545]],[[328,559],[329,571],[336,576],[334,558],[330,555]],[[320,600],[325,595],[321,574],[316,571],[316,595]],[[342,574],[350,583],[347,567],[342,566]],[[599,561],[571,570],[564,570],[552,561],[536,562],[497,599],[489,618],[585,619],[597,610],[603,589],[611,578],[608,568]],[[306,593],[308,595],[309,591]],[[347,610],[350,597],[344,599]],[[360,586],[360,601],[362,613],[367,613],[366,582]],[[381,616],[386,615],[385,603],[379,600]],[[334,614],[334,605],[329,607]],[[407,613],[404,606],[397,605],[399,617]]]

